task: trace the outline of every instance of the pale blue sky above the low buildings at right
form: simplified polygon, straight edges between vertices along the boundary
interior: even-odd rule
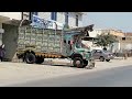
[[[87,12],[84,25],[95,24],[94,29],[116,29],[132,32],[132,12]]]

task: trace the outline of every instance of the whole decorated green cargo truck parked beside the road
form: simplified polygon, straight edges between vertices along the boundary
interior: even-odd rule
[[[95,67],[92,53],[82,46],[82,37],[94,24],[74,29],[34,28],[23,20],[19,26],[16,56],[28,64],[42,64],[45,58],[68,58],[78,68]]]

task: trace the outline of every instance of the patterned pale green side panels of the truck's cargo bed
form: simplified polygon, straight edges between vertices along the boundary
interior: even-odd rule
[[[19,29],[18,51],[31,47],[37,53],[61,54],[63,47],[62,36],[62,31],[22,26]]]

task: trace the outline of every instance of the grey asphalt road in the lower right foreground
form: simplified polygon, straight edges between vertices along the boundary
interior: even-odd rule
[[[132,66],[42,79],[10,87],[132,87]]]

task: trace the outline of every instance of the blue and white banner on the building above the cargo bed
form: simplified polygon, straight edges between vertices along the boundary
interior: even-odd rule
[[[44,19],[41,19],[40,16],[34,15],[34,14],[32,16],[31,25],[34,28],[53,29],[53,30],[55,30],[56,28],[57,28],[57,30],[63,30],[63,28],[64,28],[63,23],[58,23],[58,22],[53,21],[53,20],[44,20]]]

